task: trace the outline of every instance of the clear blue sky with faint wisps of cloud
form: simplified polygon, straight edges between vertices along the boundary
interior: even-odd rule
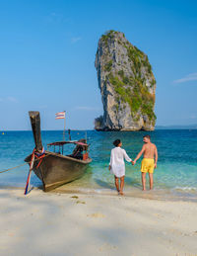
[[[157,125],[197,124],[196,1],[0,0],[0,130],[94,128],[102,114],[95,56],[107,30],[149,56]]]

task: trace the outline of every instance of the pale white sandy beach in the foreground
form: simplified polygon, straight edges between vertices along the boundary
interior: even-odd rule
[[[197,204],[0,190],[0,255],[197,255]]]

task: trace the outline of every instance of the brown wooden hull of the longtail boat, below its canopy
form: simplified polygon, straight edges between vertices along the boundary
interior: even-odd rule
[[[50,151],[45,151],[45,155],[38,168],[39,160],[33,164],[33,172],[41,180],[45,192],[80,178],[92,162],[91,158],[79,160]],[[31,157],[32,154],[25,161],[30,162]]]

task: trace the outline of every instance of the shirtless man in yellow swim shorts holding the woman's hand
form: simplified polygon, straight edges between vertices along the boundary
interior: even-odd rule
[[[145,135],[143,137],[143,141],[145,144],[143,145],[142,150],[139,152],[139,154],[133,161],[133,165],[143,154],[144,158],[141,164],[141,172],[142,172],[142,186],[143,186],[143,190],[145,191],[147,172],[149,173],[150,190],[153,189],[154,169],[157,168],[157,162],[158,162],[158,149],[157,149],[157,146],[151,142],[150,135]]]

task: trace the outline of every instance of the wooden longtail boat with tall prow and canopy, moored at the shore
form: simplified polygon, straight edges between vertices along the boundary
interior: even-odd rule
[[[43,191],[48,192],[81,177],[88,164],[92,162],[86,139],[52,142],[47,144],[47,150],[44,151],[41,142],[39,112],[31,111],[29,116],[35,147],[33,153],[27,156],[25,161],[30,163],[34,159],[33,172],[41,180]],[[64,155],[64,146],[68,144],[74,144],[75,148],[71,154]],[[54,151],[49,150],[51,146]],[[55,151],[57,147],[58,152]]]

